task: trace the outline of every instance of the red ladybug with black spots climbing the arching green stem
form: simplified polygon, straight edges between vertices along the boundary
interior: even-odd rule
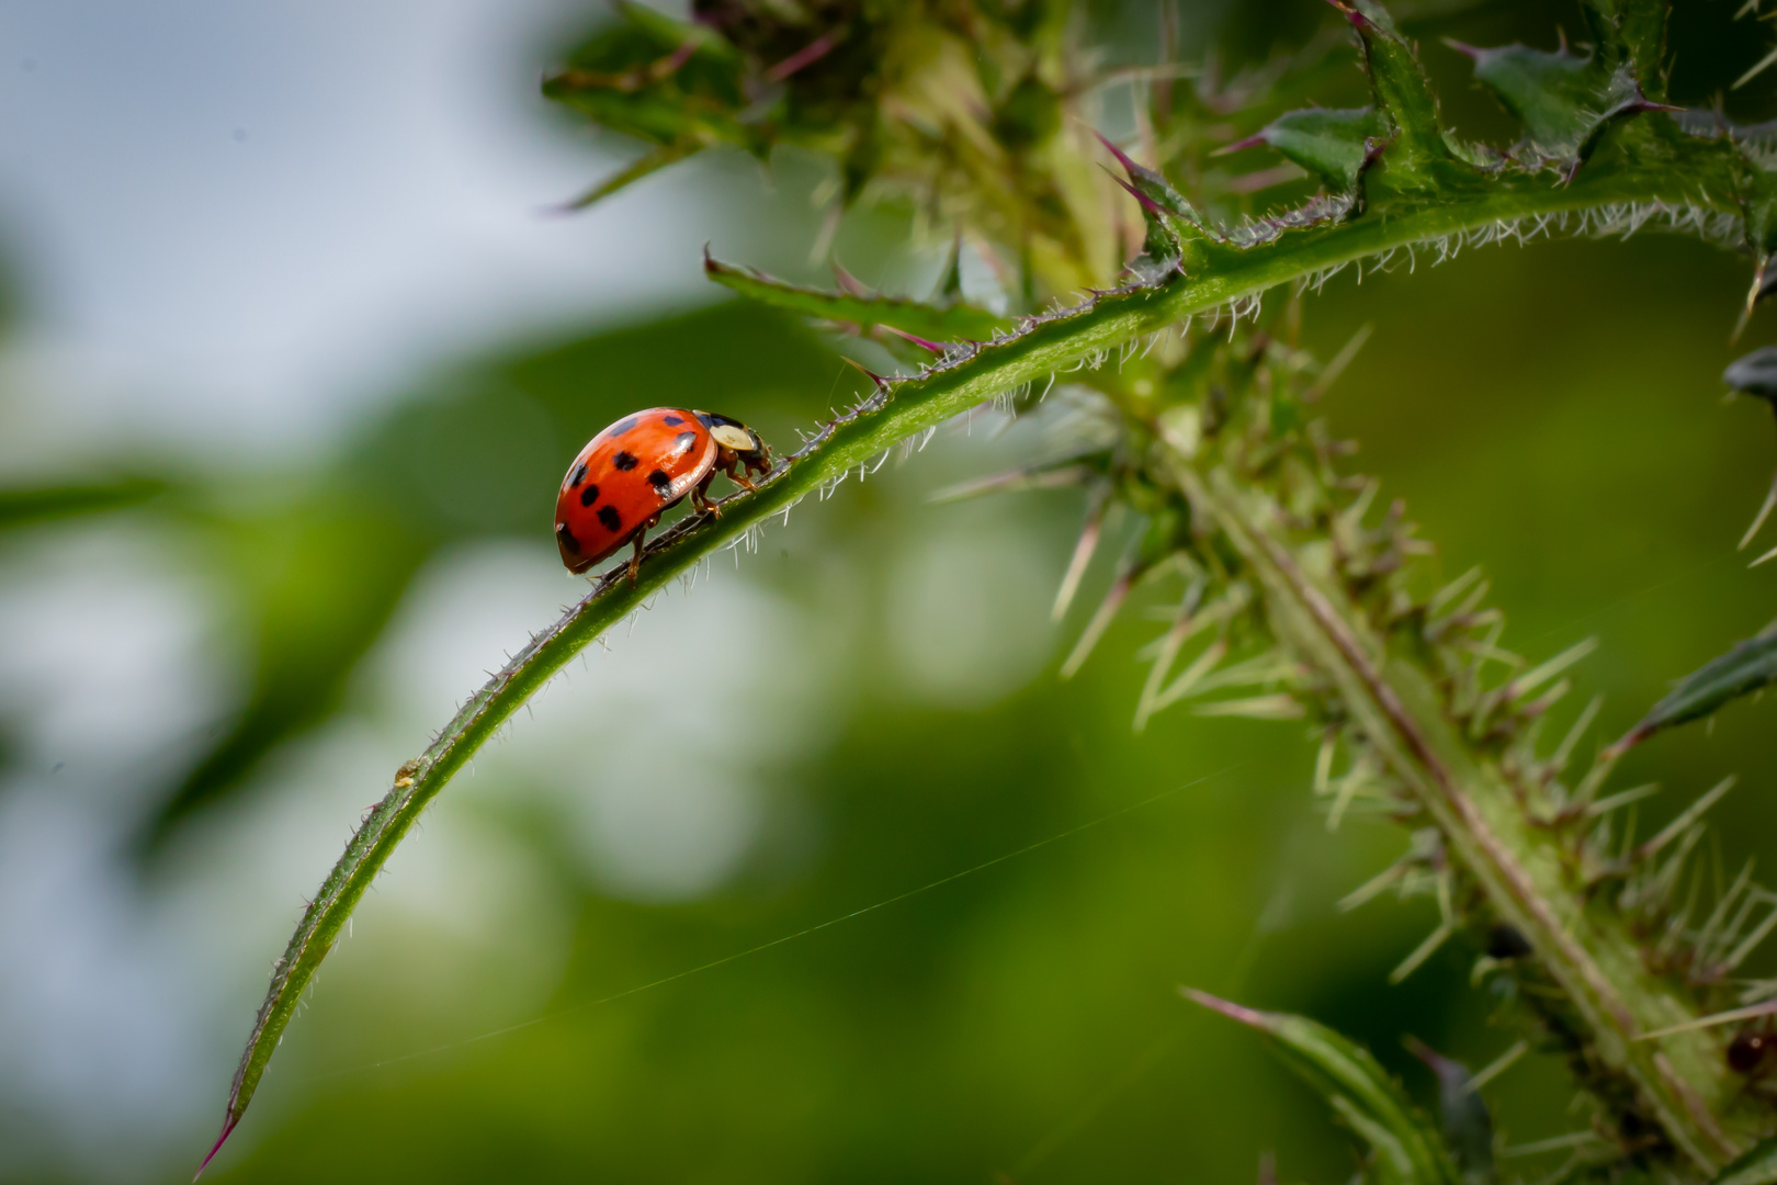
[[[681,407],[624,416],[592,437],[567,469],[556,497],[556,545],[569,572],[585,572],[634,544],[629,583],[641,569],[650,526],[686,494],[697,510],[721,513],[707,490],[716,471],[748,490],[750,474],[771,471],[771,449],[737,419]]]

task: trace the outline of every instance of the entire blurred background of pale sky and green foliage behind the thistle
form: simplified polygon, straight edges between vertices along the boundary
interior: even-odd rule
[[[1736,7],[1679,5],[1681,101],[1763,53]],[[1446,114],[1503,142],[1438,37],[1578,20],[1443,9],[1414,34]],[[1111,60],[1151,60],[1151,5],[1091,12]],[[698,266],[709,242],[825,282],[830,167],[705,155],[554,211],[626,160],[537,94],[604,16],[0,5],[0,490],[30,492],[0,499],[0,1180],[187,1178],[304,895],[581,595],[549,510],[586,437],[670,403],[787,446],[853,391]],[[1187,55],[1326,16],[1187,5]],[[1352,66],[1317,98],[1359,96]],[[1777,114],[1763,84],[1727,105]],[[892,206],[835,252],[915,295],[938,266]],[[1777,615],[1777,565],[1734,553],[1777,432],[1718,382],[1777,338],[1727,343],[1749,274],[1557,242],[1306,309],[1322,357],[1375,327],[1326,412],[1450,576],[1487,567],[1505,645],[1603,640],[1574,700],[1608,696],[1608,736]],[[1354,1151],[1320,1101],[1178,984],[1359,1036],[1427,1105],[1404,1034],[1509,1046],[1473,950],[1386,984],[1429,903],[1335,910],[1407,837],[1327,833],[1299,725],[1134,734],[1141,606],[1057,679],[1109,581],[1048,622],[1080,499],[929,501],[1043,448],[940,433],[551,684],[359,908],[211,1180],[1249,1181],[1274,1151],[1329,1181]],[[1738,771],[1724,865],[1777,856],[1770,712],[1638,750],[1622,785],[1667,787],[1644,819]],[[1509,1146],[1578,1123],[1537,1055],[1489,1096]]]

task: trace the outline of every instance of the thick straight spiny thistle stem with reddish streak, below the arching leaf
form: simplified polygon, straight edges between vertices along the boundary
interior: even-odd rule
[[[1221,528],[1258,574],[1279,641],[1338,688],[1489,906],[1530,942],[1590,1030],[1596,1057],[1635,1084],[1642,1105],[1704,1173],[1752,1144],[1761,1128],[1733,1107],[1736,1087],[1717,1038],[1688,1030],[1638,1039],[1681,1023],[1692,1007],[1646,970],[1640,945],[1617,919],[1585,908],[1557,837],[1537,830],[1502,773],[1464,744],[1423,672],[1390,654],[1336,581],[1315,574],[1269,497],[1226,471],[1199,474],[1176,451],[1171,471],[1194,512]]]

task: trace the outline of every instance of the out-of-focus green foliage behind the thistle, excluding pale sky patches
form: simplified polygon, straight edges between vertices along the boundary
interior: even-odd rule
[[[1144,5],[1112,7],[1111,27],[1146,28]],[[1724,23],[1725,7],[1677,14],[1683,98],[1697,98],[1683,84],[1699,60],[1756,57]],[[1272,28],[1311,32],[1315,9],[1237,7],[1230,64],[1263,59]],[[1427,36],[1546,44],[1548,25],[1542,5],[1482,5]],[[1464,126],[1493,126],[1489,99],[1462,89],[1461,57],[1427,44],[1425,59],[1434,75],[1464,80],[1443,87],[1446,110]],[[1361,78],[1347,75],[1317,98],[1352,101]],[[1768,92],[1729,96],[1740,114],[1756,115],[1759,101]],[[1507,645],[1553,652],[1603,638],[1574,698],[1605,691],[1612,736],[1669,679],[1773,613],[1777,574],[1747,572],[1733,545],[1777,448],[1766,409],[1722,405],[1717,382],[1733,357],[1725,327],[1743,281],[1741,261],[1685,240],[1551,243],[1361,286],[1340,281],[1308,306],[1306,336],[1324,357],[1359,325],[1377,325],[1329,414],[1363,442],[1384,494],[1407,497],[1450,576],[1487,567],[1510,611]],[[1772,318],[1754,320],[1747,345],[1777,332]],[[222,737],[144,833],[165,840],[201,808],[270,792],[256,776],[263,759],[350,702],[354,672],[426,560],[464,540],[547,544],[562,469],[620,412],[704,405],[789,442],[844,398],[846,373],[830,343],[787,318],[739,302],[673,311],[464,362],[279,497],[149,501],[131,519],[142,529],[178,519],[206,531],[213,572],[251,622],[243,666],[254,673]],[[862,620],[860,634],[880,640],[883,595],[869,590],[892,577],[903,542],[968,529],[976,510],[924,497],[981,473],[984,449],[942,441],[880,481],[848,485],[768,535],[743,576],[721,579],[778,592],[810,634],[823,622]],[[18,505],[71,505],[53,497]],[[1079,515],[1073,496],[1040,494],[997,522],[1032,538],[1059,576]],[[828,579],[835,569],[848,577]],[[1089,597],[1082,602],[1050,638],[1052,656],[1089,611]],[[620,899],[572,867],[562,837],[521,794],[446,794],[439,814],[519,844],[570,917],[547,1000],[499,1018],[474,1004],[418,1007],[386,975],[405,947],[379,961],[347,943],[320,988],[327,1007],[291,1029],[254,1126],[211,1173],[1244,1181],[1260,1151],[1276,1149],[1285,1180],[1343,1180],[1351,1144],[1320,1101],[1247,1034],[1187,1009],[1176,984],[1239,993],[1363,1039],[1427,1110],[1436,1082],[1402,1034],[1470,1066],[1491,1061],[1507,1038],[1486,1022],[1491,1000],[1466,986],[1471,950],[1446,949],[1404,986],[1384,986],[1429,929],[1427,908],[1331,908],[1404,837],[1367,821],[1320,833],[1308,799],[1313,750],[1297,727],[1169,712],[1132,736],[1143,673],[1132,656],[1159,631],[1130,613],[1079,679],[1057,682],[1052,661],[1029,686],[974,707],[896,693],[885,647],[858,648],[832,736],[771,771],[803,823],[782,824],[743,876],[704,899]],[[1770,711],[1741,707],[1624,762],[1631,776],[1669,787],[1741,773],[1750,789],[1718,808],[1725,867],[1777,856]],[[522,730],[514,743],[524,744]],[[1653,823],[1679,801],[1654,799]],[[1043,846],[945,879],[1032,844]],[[945,883],[597,1004],[936,881]],[[455,940],[419,931],[403,942]],[[501,974],[498,963],[466,972],[469,995],[498,998],[487,984]],[[238,1020],[251,1006],[243,997]],[[528,1027],[489,1036],[515,1023]],[[217,1064],[231,1054],[222,1048]],[[391,1059],[403,1061],[377,1066]],[[1553,1059],[1528,1057],[1489,1093],[1509,1144],[1571,1128]],[[1507,1173],[1537,1176],[1553,1164],[1525,1158]]]

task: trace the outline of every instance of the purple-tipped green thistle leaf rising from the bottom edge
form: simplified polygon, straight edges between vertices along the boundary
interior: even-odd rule
[[[1455,1185],[1455,1164],[1443,1139],[1413,1109],[1400,1084],[1370,1050],[1306,1016],[1260,1013],[1180,988],[1187,1000],[1221,1013],[1272,1039],[1272,1050],[1370,1144],[1374,1180],[1390,1185]]]

